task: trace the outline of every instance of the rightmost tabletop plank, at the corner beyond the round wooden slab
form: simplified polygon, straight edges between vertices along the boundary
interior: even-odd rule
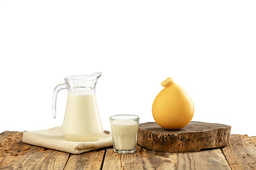
[[[230,135],[222,151],[232,169],[256,169],[256,148],[248,135]]]

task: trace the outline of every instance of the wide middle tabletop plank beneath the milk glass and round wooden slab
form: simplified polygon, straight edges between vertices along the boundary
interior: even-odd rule
[[[134,154],[117,154],[107,149],[102,169],[228,169],[230,166],[220,149],[201,152],[154,152],[137,145]]]

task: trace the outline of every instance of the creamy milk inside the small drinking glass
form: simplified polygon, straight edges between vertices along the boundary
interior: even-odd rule
[[[137,121],[112,120],[110,125],[115,149],[130,150],[136,147],[139,128]]]

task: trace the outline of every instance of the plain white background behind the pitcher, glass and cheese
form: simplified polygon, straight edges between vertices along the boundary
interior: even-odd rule
[[[0,132],[62,125],[64,77],[102,72],[109,117],[139,115],[172,77],[191,96],[193,121],[256,135],[256,1],[0,0]]]

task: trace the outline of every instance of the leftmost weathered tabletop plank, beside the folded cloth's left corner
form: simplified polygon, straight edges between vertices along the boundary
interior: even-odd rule
[[[68,162],[68,153],[23,143],[22,132],[0,136],[0,169],[64,169]]]

